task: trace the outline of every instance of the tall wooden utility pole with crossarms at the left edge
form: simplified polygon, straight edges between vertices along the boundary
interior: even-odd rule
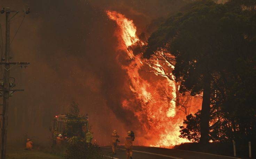
[[[0,94],[3,96],[3,109],[2,109],[2,132],[1,132],[1,159],[6,159],[6,144],[7,144],[7,128],[8,128],[8,107],[9,107],[9,96],[15,91],[24,91],[22,89],[11,89],[13,83],[9,82],[10,65],[28,65],[29,62],[9,62],[10,52],[10,13],[18,11],[11,11],[10,8],[1,10],[1,13],[6,12],[6,39],[5,39],[5,58],[1,59],[0,64],[4,65],[3,74],[3,89],[0,89]],[[28,13],[27,13],[28,14]],[[25,15],[25,10],[24,10]],[[4,61],[4,62],[2,62]]]

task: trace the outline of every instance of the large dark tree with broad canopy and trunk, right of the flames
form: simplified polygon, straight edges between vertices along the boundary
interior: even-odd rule
[[[175,56],[173,74],[181,83],[179,91],[203,95],[201,143],[209,141],[210,111],[218,110],[221,104],[227,106],[224,100],[234,86],[225,80],[236,72],[234,65],[239,59],[240,63],[248,62],[241,56],[251,59],[249,56],[254,55],[254,24],[246,16],[249,14],[241,14],[245,8],[236,0],[225,5],[196,1],[167,19],[148,39],[146,57],[157,51]]]

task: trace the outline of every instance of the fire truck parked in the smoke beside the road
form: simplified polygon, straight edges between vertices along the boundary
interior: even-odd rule
[[[69,119],[66,114],[56,115],[49,130],[52,132],[53,142],[56,141],[59,134],[62,134],[66,139],[72,136],[84,138],[89,130],[88,114],[84,117],[78,116],[76,119]]]

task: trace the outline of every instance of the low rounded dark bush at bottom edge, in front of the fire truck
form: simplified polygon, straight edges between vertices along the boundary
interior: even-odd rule
[[[66,150],[64,157],[67,159],[104,159],[107,158],[102,153],[100,147],[96,144],[88,145],[85,142],[72,144]]]

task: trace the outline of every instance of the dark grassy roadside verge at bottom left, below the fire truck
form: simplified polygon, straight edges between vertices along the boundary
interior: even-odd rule
[[[98,145],[93,144],[90,148],[85,142],[72,146],[63,142],[61,147],[50,147],[49,144],[40,143],[33,137],[33,149],[25,150],[26,135],[9,140],[7,145],[7,159],[107,159],[111,153],[102,152]]]

